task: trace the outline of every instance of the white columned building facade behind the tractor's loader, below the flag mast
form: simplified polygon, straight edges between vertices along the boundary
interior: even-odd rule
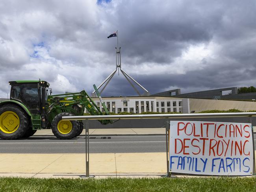
[[[98,98],[93,98],[93,101],[101,111],[104,111]],[[190,112],[188,98],[170,98],[161,96],[106,97],[103,98],[103,101],[108,110],[112,113]]]

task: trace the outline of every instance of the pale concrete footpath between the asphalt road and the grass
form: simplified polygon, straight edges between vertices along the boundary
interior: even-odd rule
[[[166,173],[166,153],[94,153],[89,158],[90,174],[98,177]],[[85,175],[85,154],[0,154],[0,176],[80,175]]]

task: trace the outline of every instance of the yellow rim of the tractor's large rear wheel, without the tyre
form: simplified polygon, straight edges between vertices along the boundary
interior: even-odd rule
[[[13,111],[6,111],[0,115],[0,130],[4,133],[13,133],[20,126],[19,116]]]

